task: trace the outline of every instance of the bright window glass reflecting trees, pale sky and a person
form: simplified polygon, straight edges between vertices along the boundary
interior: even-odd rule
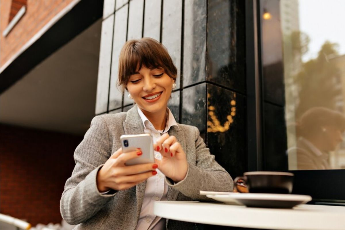
[[[345,168],[345,40],[329,31],[338,2],[328,12],[324,2],[280,1],[290,170]]]

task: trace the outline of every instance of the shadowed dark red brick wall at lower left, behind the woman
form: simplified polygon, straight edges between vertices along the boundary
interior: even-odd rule
[[[1,124],[1,213],[60,223],[60,198],[83,137]]]

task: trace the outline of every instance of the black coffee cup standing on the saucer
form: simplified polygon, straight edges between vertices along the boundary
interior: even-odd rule
[[[234,184],[238,192],[284,193],[292,192],[294,174],[290,172],[245,172],[236,177]]]

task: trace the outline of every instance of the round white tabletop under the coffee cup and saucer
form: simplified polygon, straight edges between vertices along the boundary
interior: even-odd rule
[[[345,207],[339,206],[302,204],[293,209],[273,209],[198,201],[156,201],[154,214],[173,220],[243,228],[345,230]]]

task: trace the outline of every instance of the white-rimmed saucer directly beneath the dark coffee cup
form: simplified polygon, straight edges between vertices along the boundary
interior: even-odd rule
[[[272,193],[230,193],[207,195],[207,197],[226,204],[241,203],[247,207],[292,208],[312,200],[311,196]]]

